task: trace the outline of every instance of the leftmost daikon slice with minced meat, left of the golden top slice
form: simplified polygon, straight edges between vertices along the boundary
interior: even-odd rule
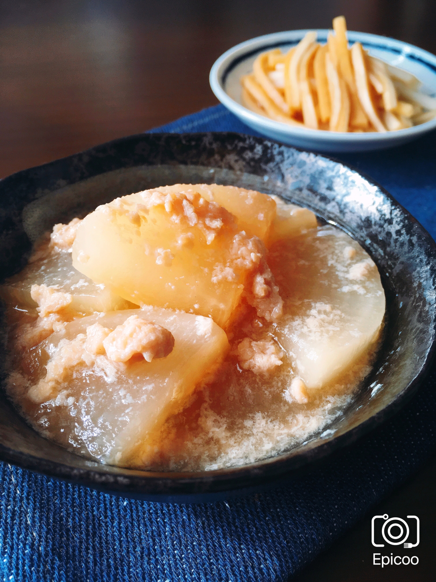
[[[77,218],[74,221],[77,221],[75,225],[80,223]],[[65,233],[68,227],[69,225],[55,226],[51,238],[45,238],[37,245],[26,267],[0,286],[0,297],[8,304],[32,309],[37,307],[37,301],[31,297],[31,288],[33,285],[44,285],[55,288],[60,293],[70,294],[68,309],[71,312],[90,314],[94,311],[115,311],[131,307],[128,301],[105,285],[97,285],[76,271],[71,252],[75,229],[73,234],[69,232],[68,237],[61,236],[62,231]]]

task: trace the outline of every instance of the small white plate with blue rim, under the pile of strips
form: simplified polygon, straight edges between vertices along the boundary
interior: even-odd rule
[[[252,71],[260,52],[280,48],[287,51],[308,30],[291,30],[252,38],[224,52],[210,70],[210,87],[223,105],[243,123],[260,134],[286,144],[324,152],[381,150],[412,141],[436,128],[436,119],[421,125],[387,133],[336,133],[306,127],[293,127],[254,113],[241,104],[240,78]],[[318,41],[327,41],[328,30],[317,30]],[[420,91],[436,94],[436,56],[407,42],[376,34],[348,32],[350,44],[361,42],[372,56],[413,73],[422,83]]]

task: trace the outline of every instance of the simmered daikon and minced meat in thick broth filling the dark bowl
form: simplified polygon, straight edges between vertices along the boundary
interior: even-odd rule
[[[176,184],[56,225],[2,286],[8,395],[102,463],[201,471],[277,455],[352,402],[385,297],[350,236],[257,191]]]

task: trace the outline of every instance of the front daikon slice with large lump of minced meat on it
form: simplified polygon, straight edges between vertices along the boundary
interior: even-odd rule
[[[153,326],[159,333],[147,343]],[[227,351],[211,318],[155,307],[94,314],[23,356],[9,391],[24,392],[20,405],[47,438],[104,463],[145,467],[153,439],[165,441],[166,418],[213,377]]]

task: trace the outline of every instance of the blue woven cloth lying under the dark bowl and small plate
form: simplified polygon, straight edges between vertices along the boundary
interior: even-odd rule
[[[153,130],[253,134],[221,105]],[[436,236],[436,133],[338,157]],[[288,580],[416,471],[436,445],[436,371],[413,400],[323,469],[204,505],[105,495],[0,463],[0,582]]]

